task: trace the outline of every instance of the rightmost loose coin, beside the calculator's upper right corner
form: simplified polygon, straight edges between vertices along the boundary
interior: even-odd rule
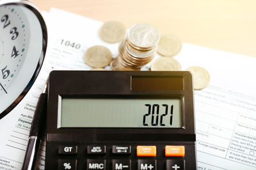
[[[210,74],[203,67],[193,66],[186,69],[193,75],[193,84],[195,90],[201,90],[207,87],[210,82]]]

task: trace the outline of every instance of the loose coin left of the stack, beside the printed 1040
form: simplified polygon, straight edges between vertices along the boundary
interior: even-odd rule
[[[84,62],[91,67],[106,67],[112,60],[112,54],[105,46],[92,46],[84,54]]]

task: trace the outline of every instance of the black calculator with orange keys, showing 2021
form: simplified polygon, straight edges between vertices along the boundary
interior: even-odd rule
[[[196,169],[188,71],[52,71],[45,169]]]

